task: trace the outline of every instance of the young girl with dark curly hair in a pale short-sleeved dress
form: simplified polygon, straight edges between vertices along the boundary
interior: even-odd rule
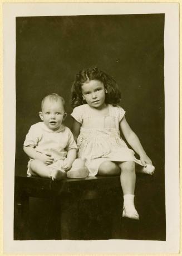
[[[135,163],[142,166],[141,172],[148,174],[153,174],[154,166],[127,123],[125,110],[117,105],[120,99],[120,91],[111,76],[97,67],[80,71],[72,85],[73,136],[79,148],[78,157],[86,161],[90,175],[121,173],[122,216],[138,220],[134,206]],[[140,160],[127,147],[120,130]]]

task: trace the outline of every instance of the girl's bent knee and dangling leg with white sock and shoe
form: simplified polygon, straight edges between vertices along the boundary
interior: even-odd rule
[[[121,174],[120,174],[121,173]],[[124,208],[122,212],[123,217],[131,219],[139,219],[139,215],[134,206],[134,192],[135,192],[135,162],[111,162],[105,161],[101,163],[98,170],[99,175],[119,175],[121,180],[121,187],[124,194]]]

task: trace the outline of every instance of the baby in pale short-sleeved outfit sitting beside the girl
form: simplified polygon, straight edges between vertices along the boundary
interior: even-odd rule
[[[68,127],[65,100],[58,94],[47,95],[41,103],[40,118],[43,122],[33,124],[23,144],[30,157],[28,175],[50,177],[52,180],[85,178],[88,170],[76,159],[76,143]],[[77,168],[79,166],[79,168]]]

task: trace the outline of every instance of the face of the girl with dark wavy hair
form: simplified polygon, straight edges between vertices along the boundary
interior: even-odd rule
[[[81,87],[83,99],[91,107],[101,109],[105,105],[106,91],[101,81],[91,80]]]

